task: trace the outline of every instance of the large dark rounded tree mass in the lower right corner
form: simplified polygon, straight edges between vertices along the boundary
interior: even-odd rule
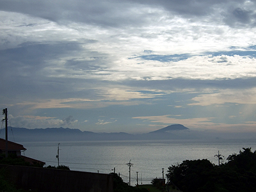
[[[243,148],[228,163],[215,166],[207,159],[183,161],[168,168],[167,177],[182,191],[256,191],[256,152]]]

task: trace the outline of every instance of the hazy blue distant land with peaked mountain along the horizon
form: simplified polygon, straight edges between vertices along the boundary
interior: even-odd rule
[[[92,132],[70,128],[27,129],[8,127],[8,140],[11,141],[115,141],[115,140],[220,140],[221,138],[243,138],[242,134],[223,134],[223,132],[193,131],[181,124],[168,125],[156,131],[143,134],[126,132]],[[3,131],[4,132],[4,131]],[[4,138],[3,132],[1,138]],[[231,136],[230,136],[231,135]],[[244,134],[244,138],[256,138],[256,134]]]

